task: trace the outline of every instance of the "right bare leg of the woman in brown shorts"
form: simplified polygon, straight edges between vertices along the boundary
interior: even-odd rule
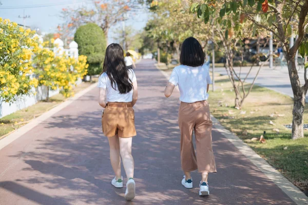
[[[131,141],[132,137],[121,138],[120,141],[120,154],[123,161],[123,166],[126,172],[127,179],[133,178],[134,162],[131,155]]]

